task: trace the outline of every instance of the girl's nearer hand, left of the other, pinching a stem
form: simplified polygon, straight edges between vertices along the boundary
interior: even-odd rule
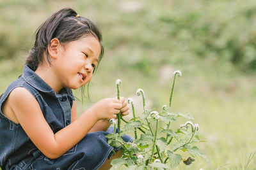
[[[118,99],[106,98],[97,102],[90,108],[98,120],[116,118],[116,114],[123,108],[123,103]],[[124,110],[125,111],[125,110]]]

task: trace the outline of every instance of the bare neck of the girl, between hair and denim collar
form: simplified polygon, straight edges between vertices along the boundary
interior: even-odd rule
[[[38,66],[36,74],[42,78],[56,93],[59,93],[63,86],[61,86],[58,76],[54,74],[51,66]]]

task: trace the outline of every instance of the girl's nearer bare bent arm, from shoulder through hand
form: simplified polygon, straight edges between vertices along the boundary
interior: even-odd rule
[[[122,108],[120,101],[105,99],[85,111],[72,124],[54,134],[47,124],[40,106],[32,94],[22,88],[14,89],[9,96],[12,110],[28,137],[49,159],[56,159],[76,145],[98,120],[115,118]],[[99,108],[99,109],[98,109]],[[100,110],[105,110],[100,113]]]

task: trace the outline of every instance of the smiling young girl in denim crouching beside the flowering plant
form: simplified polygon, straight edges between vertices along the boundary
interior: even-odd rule
[[[2,169],[108,169],[122,155],[111,157],[118,148],[105,135],[113,132],[109,119],[129,113],[125,99],[102,99],[78,117],[71,90],[92,79],[101,40],[96,25],[70,8],[40,26],[22,76],[0,99]]]

